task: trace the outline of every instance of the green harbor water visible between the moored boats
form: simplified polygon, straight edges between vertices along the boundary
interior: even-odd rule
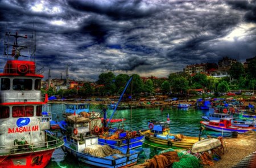
[[[52,105],[52,118],[57,120],[63,120],[62,112],[65,110],[64,104],[53,104]],[[94,109],[94,111],[101,112],[101,109]],[[108,111],[108,118],[112,115],[113,110]],[[112,127],[123,127],[125,130],[138,131],[148,129],[147,123],[150,120],[167,121],[167,115],[170,116],[170,128],[171,133],[181,133],[187,136],[199,136],[200,133],[200,120],[203,115],[208,115],[208,111],[196,110],[196,109],[126,109],[117,110],[113,118],[125,119],[122,123],[112,123]],[[207,131],[202,132],[202,136],[222,136],[221,132]],[[224,136],[229,136],[226,133]],[[145,141],[142,148],[138,148],[141,152],[139,154],[138,163],[143,163],[144,160],[152,158],[155,154],[158,154],[163,149],[168,148],[165,145],[157,145]],[[47,165],[47,168],[57,167],[90,167],[85,163],[79,162],[75,157],[66,154],[61,148],[56,149],[52,155],[52,159]]]

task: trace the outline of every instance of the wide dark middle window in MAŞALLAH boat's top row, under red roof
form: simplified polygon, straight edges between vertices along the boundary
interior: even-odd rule
[[[15,91],[31,91],[32,83],[32,79],[14,79],[13,89]]]

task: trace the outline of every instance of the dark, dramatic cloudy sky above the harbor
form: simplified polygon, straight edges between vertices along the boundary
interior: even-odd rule
[[[188,64],[256,55],[256,0],[0,0],[1,55],[6,29],[31,36],[33,27],[45,78],[49,67],[65,76],[67,64],[75,80],[109,71],[166,77]]]

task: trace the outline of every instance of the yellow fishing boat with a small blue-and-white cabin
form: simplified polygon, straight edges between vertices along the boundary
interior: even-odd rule
[[[182,134],[170,133],[170,121],[148,122],[149,130],[139,130],[141,135],[146,135],[146,139],[152,143],[168,145],[170,147],[191,148],[193,144],[199,141],[200,137],[185,136]]]

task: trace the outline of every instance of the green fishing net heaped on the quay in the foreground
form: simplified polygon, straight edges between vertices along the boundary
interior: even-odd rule
[[[166,152],[175,151],[174,149],[166,149],[162,150],[158,154],[163,154]],[[179,157],[179,162],[173,162],[172,167],[173,168],[200,168],[200,161],[197,159],[197,157],[193,156],[192,154],[189,154],[186,150],[176,150],[177,156]]]

